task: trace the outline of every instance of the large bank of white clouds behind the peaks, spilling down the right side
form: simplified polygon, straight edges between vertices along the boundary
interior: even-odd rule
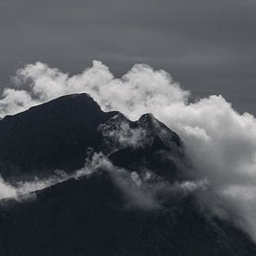
[[[136,64],[115,78],[101,61],[70,76],[36,62],[17,72],[15,88],[6,88],[0,115],[12,115],[35,104],[70,93],[89,93],[105,111],[118,110],[130,119],[153,113],[175,130],[195,166],[215,194],[237,216],[237,224],[256,241],[256,119],[239,114],[222,96],[189,102],[171,76]]]

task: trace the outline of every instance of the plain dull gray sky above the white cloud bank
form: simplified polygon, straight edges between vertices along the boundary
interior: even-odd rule
[[[255,0],[0,0],[0,89],[28,62],[116,75],[146,62],[256,115],[255,25]]]

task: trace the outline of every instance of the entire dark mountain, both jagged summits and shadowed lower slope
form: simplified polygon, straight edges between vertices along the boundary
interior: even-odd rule
[[[72,173],[86,158],[94,170],[0,201],[0,255],[256,255],[243,232],[172,189],[190,181],[189,161],[153,115],[131,122],[86,94],[65,96],[5,117],[0,141],[7,179]]]

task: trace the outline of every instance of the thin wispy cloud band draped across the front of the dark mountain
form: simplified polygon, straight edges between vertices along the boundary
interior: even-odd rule
[[[138,173],[126,168],[118,168],[110,159],[102,153],[93,153],[86,160],[85,166],[66,174],[59,171],[56,175],[45,179],[37,179],[29,182],[17,182],[10,184],[0,177],[0,202],[4,200],[33,200],[36,193],[57,183],[70,179],[79,180],[90,178],[91,175],[107,173],[115,187],[120,190],[125,199],[125,209],[158,210],[164,209],[165,203],[171,196],[176,200],[197,191],[208,188],[207,181],[184,181],[169,183],[150,170],[146,169]]]

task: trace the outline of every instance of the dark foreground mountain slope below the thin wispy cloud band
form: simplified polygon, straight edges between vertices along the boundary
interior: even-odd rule
[[[107,173],[9,204],[0,208],[1,255],[256,255],[229,222],[206,219],[193,196],[166,209],[124,208],[123,193]]]

